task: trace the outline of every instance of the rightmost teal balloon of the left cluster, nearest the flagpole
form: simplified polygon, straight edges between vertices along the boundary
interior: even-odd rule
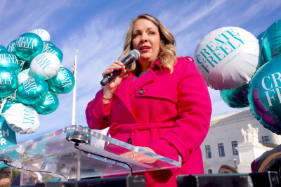
[[[49,89],[58,94],[64,94],[72,91],[75,84],[74,75],[65,67],[60,67],[55,77],[48,79]]]

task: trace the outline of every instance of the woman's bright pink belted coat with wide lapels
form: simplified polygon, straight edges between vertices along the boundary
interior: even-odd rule
[[[188,58],[178,58],[174,72],[155,68],[138,79],[126,77],[108,105],[103,105],[103,89],[86,108],[91,129],[110,127],[113,138],[134,146],[152,148],[155,153],[177,160],[180,169],[146,172],[148,186],[176,186],[178,174],[203,174],[200,145],[207,136],[211,100],[207,85]]]

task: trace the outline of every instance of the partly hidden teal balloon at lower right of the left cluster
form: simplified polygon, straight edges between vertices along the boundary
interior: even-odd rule
[[[58,105],[58,96],[56,96],[52,91],[48,91],[44,98],[34,105],[31,105],[31,107],[34,108],[34,110],[36,110],[40,115],[48,115],[57,110]]]

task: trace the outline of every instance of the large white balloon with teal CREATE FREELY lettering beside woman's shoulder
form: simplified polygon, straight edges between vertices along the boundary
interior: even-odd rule
[[[239,27],[221,27],[207,34],[194,60],[212,89],[235,89],[251,81],[259,68],[259,40]]]

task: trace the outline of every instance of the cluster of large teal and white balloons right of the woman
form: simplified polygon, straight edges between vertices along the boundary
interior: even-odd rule
[[[281,20],[258,37],[239,27],[214,30],[197,45],[195,63],[228,106],[249,106],[263,127],[281,134]]]

